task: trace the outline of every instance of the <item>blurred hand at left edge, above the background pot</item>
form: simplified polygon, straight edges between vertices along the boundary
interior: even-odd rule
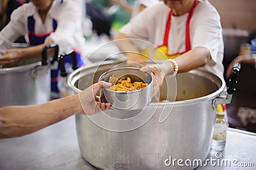
[[[19,50],[6,50],[3,56],[0,57],[0,66],[12,66],[21,59]]]

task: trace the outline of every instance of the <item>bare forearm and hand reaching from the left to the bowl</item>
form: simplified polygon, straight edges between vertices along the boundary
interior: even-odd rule
[[[97,91],[106,82],[98,82],[77,95],[52,100],[41,105],[8,106],[0,109],[0,139],[36,132],[74,114],[94,114],[110,105],[95,101]]]

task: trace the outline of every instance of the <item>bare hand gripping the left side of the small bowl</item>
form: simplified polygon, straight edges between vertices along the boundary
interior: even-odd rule
[[[109,88],[110,86],[111,84],[109,82],[100,81],[79,93],[81,107],[85,114],[92,115],[111,107],[110,104],[102,103],[99,98],[96,97],[97,92],[101,88]]]

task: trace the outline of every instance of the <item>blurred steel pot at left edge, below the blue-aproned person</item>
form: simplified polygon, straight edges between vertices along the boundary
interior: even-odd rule
[[[49,46],[46,50],[56,47]],[[57,51],[57,50],[56,50]],[[0,107],[43,104],[51,99],[51,75],[47,56],[25,59],[10,68],[0,68]]]

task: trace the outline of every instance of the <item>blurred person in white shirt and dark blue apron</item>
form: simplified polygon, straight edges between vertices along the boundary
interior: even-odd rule
[[[11,15],[9,24],[0,33],[0,66],[10,66],[24,58],[41,56],[45,45],[56,43],[59,54],[72,50],[77,54],[77,63],[83,65],[85,40],[82,30],[82,9],[76,1],[31,0]],[[12,43],[24,36],[32,47],[12,49]],[[71,63],[71,56],[64,59]],[[52,91],[58,92],[58,71],[52,71]]]

